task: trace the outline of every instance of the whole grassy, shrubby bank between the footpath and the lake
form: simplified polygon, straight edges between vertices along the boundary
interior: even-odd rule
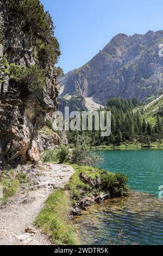
[[[107,198],[120,197],[127,191],[127,177],[90,166],[72,165],[75,172],[65,190],[60,188],[49,196],[35,220],[37,227],[48,234],[55,245],[78,244],[77,230],[70,224],[72,209],[82,207],[81,202],[96,198],[102,193]]]

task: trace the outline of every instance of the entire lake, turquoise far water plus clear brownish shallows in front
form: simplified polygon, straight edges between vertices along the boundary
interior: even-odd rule
[[[163,245],[163,150],[105,150],[102,168],[129,178],[129,197],[92,205],[77,218],[86,245]],[[146,193],[144,193],[146,192]]]

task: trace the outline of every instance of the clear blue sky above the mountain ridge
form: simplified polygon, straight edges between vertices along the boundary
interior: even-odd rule
[[[41,0],[53,17],[65,72],[79,68],[118,33],[163,29],[162,0]]]

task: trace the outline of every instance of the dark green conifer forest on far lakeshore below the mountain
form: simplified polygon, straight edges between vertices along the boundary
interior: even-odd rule
[[[163,138],[161,109],[155,113],[154,124],[144,117],[141,103],[135,97],[133,99],[112,97],[106,103],[105,111],[111,111],[111,135],[109,137],[102,137],[101,131],[95,131],[95,129],[93,131],[70,131],[68,132],[69,142],[76,143],[78,136],[82,135],[89,137],[93,146],[137,142],[150,147],[151,142],[161,143]]]

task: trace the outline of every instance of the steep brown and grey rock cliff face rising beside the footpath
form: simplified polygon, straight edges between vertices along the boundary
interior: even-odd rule
[[[46,117],[50,119],[57,109],[59,90],[53,63],[41,56],[36,45],[39,41],[48,46],[48,40],[35,31],[21,11],[12,9],[12,4],[9,8],[11,2],[14,1],[0,1],[4,54],[0,58],[0,165],[39,160],[38,132],[45,126]],[[34,65],[37,65],[38,74],[41,70],[46,71],[42,87],[30,87],[30,82],[27,86],[26,81],[10,74],[13,67],[30,70]],[[29,77],[32,81],[32,76]],[[40,81],[38,78],[38,84]]]

